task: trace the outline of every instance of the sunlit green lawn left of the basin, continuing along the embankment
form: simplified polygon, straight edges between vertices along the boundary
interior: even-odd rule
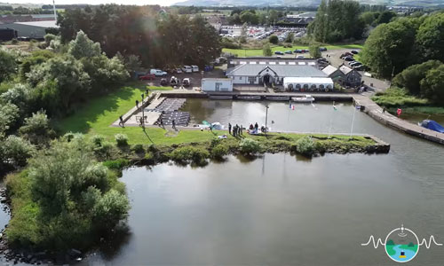
[[[93,98],[91,101],[79,108],[79,110],[60,121],[55,121],[55,127],[60,133],[80,132],[90,136],[99,134],[114,142],[115,134],[122,133],[129,137],[130,144],[151,144],[153,141],[157,145],[171,145],[192,142],[210,141],[217,135],[226,134],[226,131],[215,130],[181,130],[177,136],[166,137],[166,131],[160,128],[147,128],[144,132],[139,127],[115,128],[110,125],[116,121],[120,115],[128,112],[134,105],[136,99],[140,98],[140,94],[145,92],[145,84],[140,82],[123,86],[119,90],[108,94],[104,97]],[[170,87],[150,87],[150,90],[171,90]],[[291,140],[297,140],[304,137],[302,134],[270,134],[275,137],[288,137]],[[231,138],[231,136],[229,136]],[[349,145],[371,145],[372,140],[364,137],[354,137],[354,140],[348,140],[346,136],[336,136],[331,139],[325,139],[327,136],[315,135],[313,137],[324,138],[322,142],[337,142],[339,144],[348,143]],[[267,141],[265,137],[254,136],[260,141]],[[270,139],[268,139],[270,140]]]

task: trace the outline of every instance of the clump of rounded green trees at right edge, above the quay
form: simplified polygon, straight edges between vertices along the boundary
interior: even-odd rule
[[[381,24],[369,35],[362,62],[411,94],[444,101],[444,13]]]

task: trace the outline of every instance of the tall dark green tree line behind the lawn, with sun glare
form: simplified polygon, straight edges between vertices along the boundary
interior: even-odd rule
[[[161,12],[158,6],[105,4],[71,9],[58,18],[62,43],[83,30],[108,56],[138,56],[144,66],[204,66],[220,54],[216,30],[201,16]]]

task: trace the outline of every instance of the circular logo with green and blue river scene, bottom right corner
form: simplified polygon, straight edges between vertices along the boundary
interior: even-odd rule
[[[385,253],[395,262],[409,262],[419,251],[419,239],[414,231],[404,228],[394,229],[385,238]]]

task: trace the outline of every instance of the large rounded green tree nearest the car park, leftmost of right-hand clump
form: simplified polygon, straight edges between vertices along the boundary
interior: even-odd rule
[[[388,78],[412,64],[416,19],[400,19],[376,27],[364,44],[362,62]]]

